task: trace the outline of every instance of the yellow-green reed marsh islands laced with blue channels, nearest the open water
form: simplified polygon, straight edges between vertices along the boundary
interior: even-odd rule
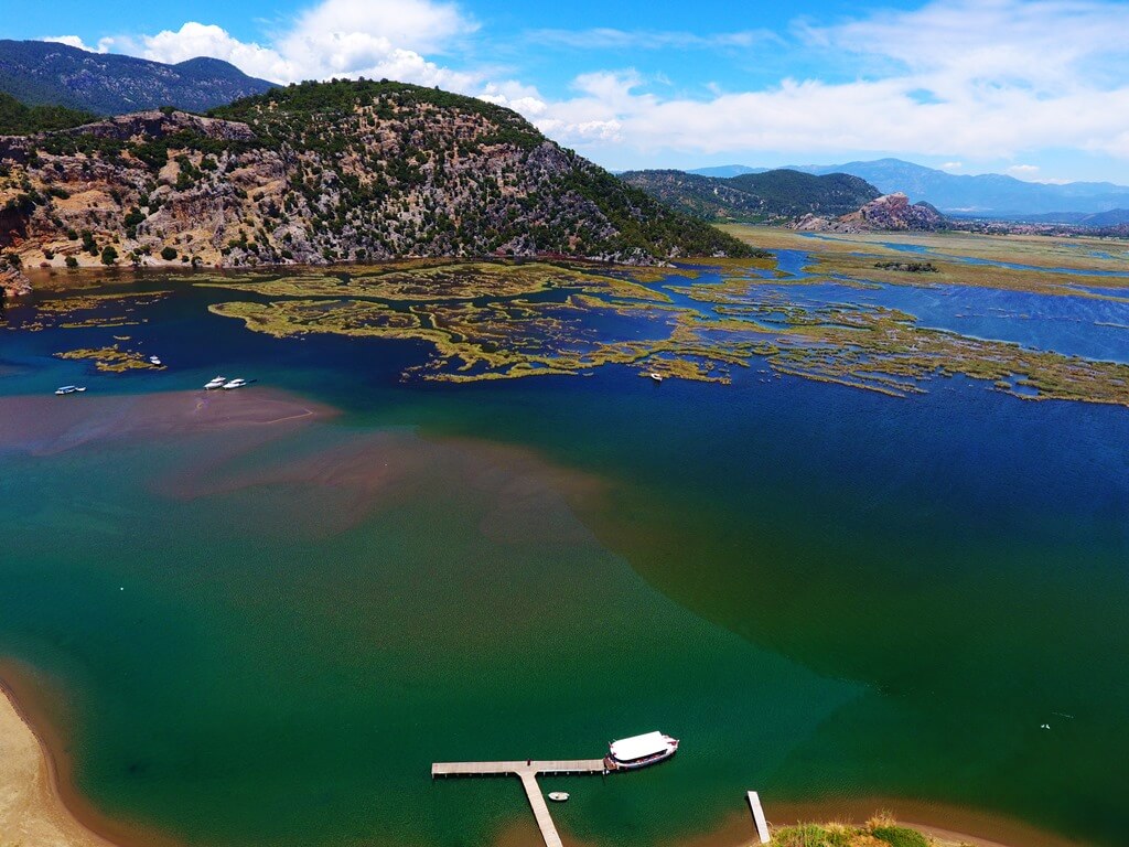
[[[835,257],[881,271],[870,259]],[[545,262],[429,262],[361,276],[228,279],[219,286],[271,299],[209,308],[274,338],[422,342],[426,359],[406,367],[403,379],[577,376],[621,366],[644,377],[730,384],[735,369],[760,360],[779,375],[892,398],[964,376],[1023,400],[1129,405],[1124,365],[922,329],[913,315],[881,306],[805,304],[767,289],[747,262],[728,267],[718,282],[691,277],[664,291],[622,269],[604,274]],[[667,292],[690,305],[676,305]]]

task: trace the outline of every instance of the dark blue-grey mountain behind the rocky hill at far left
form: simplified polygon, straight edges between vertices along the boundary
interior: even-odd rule
[[[0,91],[27,106],[99,115],[157,106],[204,112],[273,87],[219,59],[164,64],[53,42],[0,40]]]

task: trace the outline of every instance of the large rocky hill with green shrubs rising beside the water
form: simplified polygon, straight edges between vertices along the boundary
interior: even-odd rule
[[[0,248],[25,268],[752,252],[515,112],[370,81],[0,138]]]

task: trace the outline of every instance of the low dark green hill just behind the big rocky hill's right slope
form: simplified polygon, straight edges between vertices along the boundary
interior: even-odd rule
[[[781,169],[720,178],[681,171],[629,171],[620,176],[666,206],[710,221],[844,215],[879,195],[873,185],[847,174],[813,176]]]

